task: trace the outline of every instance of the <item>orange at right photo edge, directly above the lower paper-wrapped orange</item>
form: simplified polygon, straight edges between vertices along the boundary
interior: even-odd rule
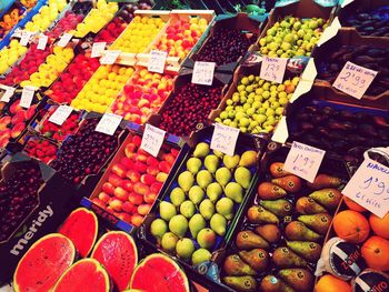
[[[389,271],[389,240],[373,235],[363,243],[361,252],[369,268]]]

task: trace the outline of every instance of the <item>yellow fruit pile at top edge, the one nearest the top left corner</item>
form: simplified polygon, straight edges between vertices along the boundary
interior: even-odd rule
[[[31,21],[26,23],[24,29],[31,32],[47,30],[67,4],[67,0],[49,0],[49,3],[43,6]]]

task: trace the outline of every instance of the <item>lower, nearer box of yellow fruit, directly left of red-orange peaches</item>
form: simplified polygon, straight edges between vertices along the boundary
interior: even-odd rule
[[[133,72],[131,67],[100,66],[73,99],[71,107],[86,111],[106,112]]]

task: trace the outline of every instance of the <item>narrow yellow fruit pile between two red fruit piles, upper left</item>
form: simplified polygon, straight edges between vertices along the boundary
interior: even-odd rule
[[[46,62],[39,67],[38,72],[32,73],[30,80],[22,81],[20,85],[50,87],[73,58],[74,52],[72,48],[56,47],[53,53],[49,54],[46,58]]]

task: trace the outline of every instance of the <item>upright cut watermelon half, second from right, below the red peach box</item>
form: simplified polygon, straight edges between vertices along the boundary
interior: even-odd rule
[[[96,244],[91,258],[108,271],[119,291],[128,288],[138,263],[138,251],[133,239],[122,231],[110,231]]]

